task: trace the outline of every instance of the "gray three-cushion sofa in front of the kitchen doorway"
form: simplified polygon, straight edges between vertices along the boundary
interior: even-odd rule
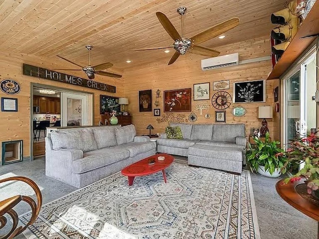
[[[52,131],[45,138],[45,175],[81,188],[156,153],[135,126]]]

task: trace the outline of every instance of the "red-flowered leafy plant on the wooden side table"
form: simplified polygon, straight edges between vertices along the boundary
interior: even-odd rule
[[[285,179],[285,183],[306,179],[308,193],[319,198],[319,137],[315,133],[296,139],[280,155],[287,158],[284,168],[304,163],[304,167],[295,175]],[[288,166],[287,166],[288,165]]]

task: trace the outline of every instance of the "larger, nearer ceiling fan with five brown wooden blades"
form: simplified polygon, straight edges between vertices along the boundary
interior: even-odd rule
[[[158,11],[156,12],[157,17],[160,20],[160,23],[170,35],[170,37],[175,41],[171,46],[167,47],[154,47],[154,48],[142,48],[142,49],[134,49],[135,51],[144,51],[144,50],[155,50],[155,49],[165,49],[165,48],[174,48],[176,52],[170,58],[168,65],[174,63],[180,55],[184,55],[187,51],[203,56],[215,57],[220,54],[220,52],[215,51],[211,48],[198,46],[198,44],[207,41],[211,38],[214,38],[230,29],[234,28],[239,24],[239,18],[234,17],[227,21],[218,23],[198,34],[185,38],[183,36],[183,15],[186,13],[187,8],[185,6],[180,6],[177,8],[177,12],[181,15],[181,36],[173,26],[173,24],[168,20],[164,13]]]

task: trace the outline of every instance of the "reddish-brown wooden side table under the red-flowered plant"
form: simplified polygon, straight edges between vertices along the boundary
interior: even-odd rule
[[[298,211],[318,222],[317,239],[319,239],[319,200],[307,193],[305,179],[288,184],[283,181],[284,179],[276,183],[277,193]]]

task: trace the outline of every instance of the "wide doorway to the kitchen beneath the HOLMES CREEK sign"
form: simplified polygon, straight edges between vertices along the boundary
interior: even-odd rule
[[[45,154],[47,127],[93,125],[93,94],[31,84],[30,160]]]

